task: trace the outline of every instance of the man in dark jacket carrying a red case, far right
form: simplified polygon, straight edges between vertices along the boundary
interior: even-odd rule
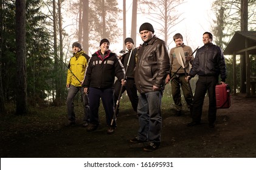
[[[198,75],[196,82],[195,95],[193,100],[192,122],[187,126],[195,126],[201,123],[202,105],[204,104],[204,97],[208,90],[209,95],[209,109],[208,120],[209,127],[215,126],[216,120],[216,99],[215,86],[218,84],[218,77],[221,77],[221,84],[224,84],[227,78],[227,70],[223,51],[220,47],[212,44],[212,33],[205,32],[202,35],[202,46],[196,52],[195,60],[193,61],[192,69],[186,80]]]

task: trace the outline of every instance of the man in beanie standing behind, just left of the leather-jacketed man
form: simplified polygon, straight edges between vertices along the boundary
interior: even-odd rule
[[[131,105],[133,106],[133,110],[135,112],[137,112],[139,97],[137,95],[137,88],[136,88],[136,84],[134,81],[134,67],[136,65],[135,55],[137,53],[137,48],[133,47],[134,42],[133,42],[133,39],[131,39],[131,38],[125,39],[125,46],[128,49],[128,53],[125,53],[124,55],[122,55],[121,62],[123,64],[123,66],[125,67],[125,71],[126,71],[126,84],[125,84],[125,86],[123,86],[121,94],[123,94],[123,92],[125,92],[125,90],[126,90],[128,97],[131,101]],[[115,104],[117,103],[121,87],[122,87],[121,82],[119,80],[116,80],[116,82],[114,84]],[[119,107],[119,105],[116,107]],[[117,112],[116,112],[116,115],[118,115],[118,114],[119,114],[119,109],[117,109]]]

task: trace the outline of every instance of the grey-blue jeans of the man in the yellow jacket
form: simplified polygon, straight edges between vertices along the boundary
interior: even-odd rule
[[[75,122],[75,112],[74,112],[74,98],[75,95],[80,91],[81,98],[83,99],[83,106],[84,106],[84,117],[83,121],[89,122],[89,98],[88,95],[84,92],[84,87],[75,87],[71,85],[69,87],[69,91],[67,92],[67,115],[70,121]]]

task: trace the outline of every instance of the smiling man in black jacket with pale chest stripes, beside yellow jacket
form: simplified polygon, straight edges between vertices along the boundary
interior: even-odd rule
[[[85,81],[85,92],[89,92],[90,121],[87,131],[95,131],[99,126],[100,98],[106,113],[108,134],[113,134],[116,122],[111,120],[114,115],[114,80],[115,76],[121,81],[125,75],[123,64],[116,53],[109,50],[108,39],[100,41],[100,50],[95,52],[88,64]],[[89,87],[89,89],[88,89]]]

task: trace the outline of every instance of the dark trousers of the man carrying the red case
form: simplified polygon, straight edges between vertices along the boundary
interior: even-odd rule
[[[209,108],[208,108],[208,120],[209,123],[214,123],[216,120],[216,98],[215,98],[215,86],[218,83],[218,77],[199,77],[196,82],[195,95],[193,100],[193,121],[200,122],[202,116],[202,105],[204,104],[204,97],[208,90]]]

